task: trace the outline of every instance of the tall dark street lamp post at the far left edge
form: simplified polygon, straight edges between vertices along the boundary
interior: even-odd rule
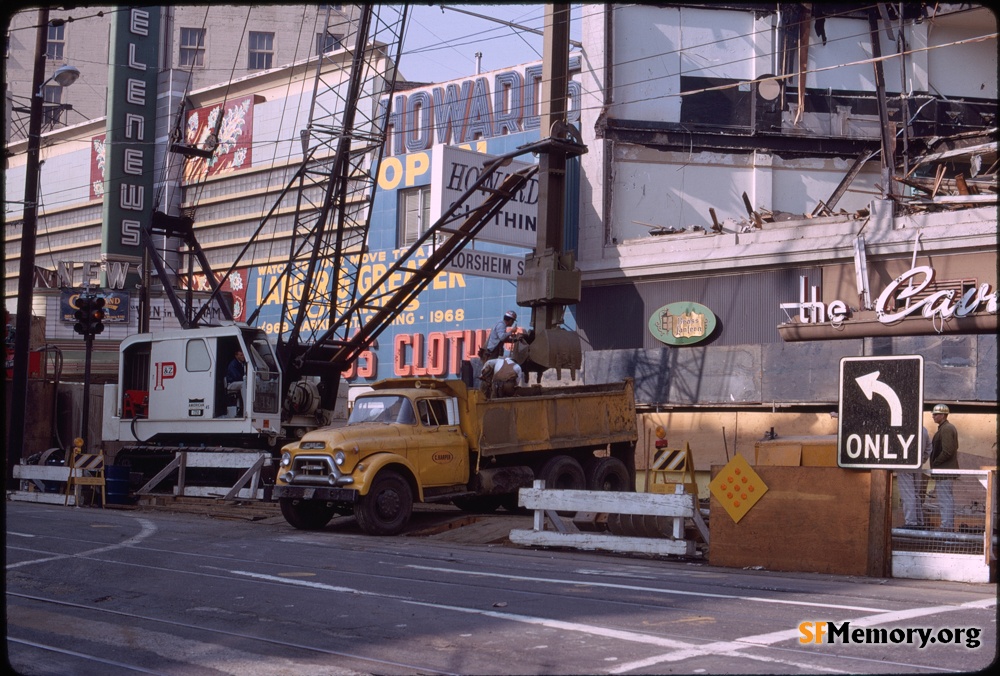
[[[24,209],[21,226],[20,269],[17,279],[17,321],[14,325],[14,378],[11,382],[10,428],[7,436],[7,482],[14,483],[14,465],[24,453],[25,412],[28,399],[28,357],[31,351],[31,315],[35,286],[35,234],[38,228],[38,155],[41,148],[45,85],[55,81],[62,87],[76,82],[80,71],[63,66],[45,79],[45,54],[49,40],[49,10],[38,10],[35,34],[35,67],[31,80],[28,114],[28,151],[24,165]]]

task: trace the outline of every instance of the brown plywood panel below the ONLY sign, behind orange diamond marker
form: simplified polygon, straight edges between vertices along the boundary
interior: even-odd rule
[[[712,476],[722,468],[712,468]],[[739,523],[712,496],[712,565],[867,575],[871,473],[754,467],[768,491]]]

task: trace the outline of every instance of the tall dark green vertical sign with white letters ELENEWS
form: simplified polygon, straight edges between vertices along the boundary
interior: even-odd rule
[[[101,285],[106,288],[133,289],[139,284],[139,230],[153,215],[159,44],[159,7],[128,7],[115,13],[101,234]]]

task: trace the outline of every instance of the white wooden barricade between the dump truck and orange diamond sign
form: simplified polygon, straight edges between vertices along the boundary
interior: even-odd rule
[[[685,519],[691,519],[702,538],[708,542],[708,527],[701,517],[696,495],[545,490],[544,486],[544,481],[535,481],[532,488],[520,490],[518,504],[535,510],[535,520],[532,530],[512,530],[511,542],[541,547],[693,556],[695,542],[683,539]],[[627,537],[581,532],[572,520],[564,519],[559,512],[670,517],[674,520],[673,537]],[[545,530],[546,520],[555,531]]]

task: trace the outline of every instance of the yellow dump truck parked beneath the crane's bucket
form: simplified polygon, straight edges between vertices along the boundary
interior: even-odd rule
[[[487,399],[461,380],[392,378],[355,400],[346,426],[285,446],[274,496],[295,528],[353,513],[365,532],[394,535],[415,502],[514,510],[534,479],[635,490],[637,436],[631,380]]]

